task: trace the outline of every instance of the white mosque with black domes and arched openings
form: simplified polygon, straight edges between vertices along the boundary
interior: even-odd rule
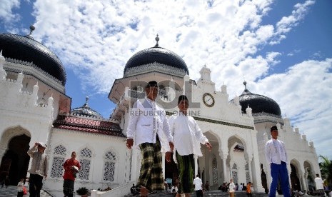
[[[31,26],[31,32],[34,30]],[[115,103],[110,117],[104,118],[89,107],[89,98],[71,109],[66,95],[66,71],[53,51],[27,36],[0,34],[0,178],[9,176],[11,185],[29,176],[31,160],[26,154],[36,141],[46,142],[49,175],[44,188],[54,196],[62,194],[62,164],[76,151],[81,163],[75,188],[111,191],[101,196],[124,196],[139,177],[141,163],[137,149],[126,148],[126,128],[130,109],[144,98],[144,86],[157,81],[156,102],[168,115],[176,113],[177,98],[186,94],[189,113],[213,146],[201,147],[195,157],[195,173],[208,181],[211,189],[233,178],[234,183],[253,183],[254,191],[265,192],[271,183],[264,154],[276,125],[288,153],[291,187],[308,190],[319,173],[318,156],[273,99],[253,94],[246,82],[240,96],[228,96],[227,86],[216,87],[211,70],[202,66],[197,81],[190,78],[188,66],[178,54],[156,45],[129,58],[124,76],[110,87],[109,100]],[[164,154],[163,154],[164,155]],[[164,176],[171,183],[177,176],[175,163],[164,160]]]

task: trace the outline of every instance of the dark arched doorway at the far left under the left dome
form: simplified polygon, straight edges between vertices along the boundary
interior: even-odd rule
[[[15,136],[9,141],[8,149],[1,160],[0,176],[9,176],[10,185],[16,186],[19,179],[26,177],[29,168],[30,137],[26,135]]]

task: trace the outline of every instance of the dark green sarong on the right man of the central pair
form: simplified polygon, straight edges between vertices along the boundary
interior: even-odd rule
[[[178,161],[178,193],[193,193],[193,171],[195,164],[193,154],[181,156],[176,151]]]

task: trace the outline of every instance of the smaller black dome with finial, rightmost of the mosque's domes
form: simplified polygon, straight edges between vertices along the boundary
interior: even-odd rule
[[[246,82],[243,84],[246,86]],[[252,109],[252,113],[270,113],[276,116],[281,116],[281,110],[278,103],[267,96],[252,94],[245,88],[241,96],[238,96],[238,98],[241,110],[244,112],[249,106]]]

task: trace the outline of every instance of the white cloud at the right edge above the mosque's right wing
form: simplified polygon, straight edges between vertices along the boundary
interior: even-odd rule
[[[318,154],[329,156],[332,143],[332,59],[303,61],[285,74],[273,74],[256,84],[259,92],[273,98],[291,124],[313,141]],[[251,84],[248,84],[249,90]],[[254,91],[251,91],[254,92]],[[319,143],[318,143],[319,142]]]

